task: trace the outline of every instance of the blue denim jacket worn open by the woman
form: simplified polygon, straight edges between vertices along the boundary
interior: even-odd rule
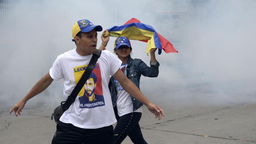
[[[126,69],[127,78],[129,78],[140,89],[141,75],[145,77],[157,77],[159,73],[158,68],[159,68],[158,62],[156,66],[151,65],[149,67],[141,59],[137,59],[137,58],[132,59],[131,56],[129,55],[128,62],[127,62],[127,69]],[[115,90],[113,76],[110,78],[108,87],[110,90],[112,104],[114,107],[117,102],[117,91]],[[130,95],[130,98],[132,100],[133,110],[137,110],[139,107],[143,105],[137,99],[133,98],[133,96]]]

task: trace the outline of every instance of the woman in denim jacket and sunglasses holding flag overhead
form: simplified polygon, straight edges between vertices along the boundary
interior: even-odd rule
[[[102,39],[102,45],[106,46],[107,42]],[[104,44],[105,43],[105,44]],[[102,49],[102,46],[100,47]],[[104,49],[102,49],[104,50]],[[141,75],[145,77],[157,77],[159,63],[155,58],[156,48],[150,50],[150,67],[141,59],[132,59],[130,40],[126,37],[118,37],[114,43],[114,52],[122,61],[120,69],[124,74],[139,88]],[[129,95],[120,85],[120,83],[110,78],[109,89],[114,107],[117,125],[114,128],[114,143],[121,143],[128,135],[133,143],[147,143],[141,133],[139,120],[142,115],[143,105],[141,102]]]

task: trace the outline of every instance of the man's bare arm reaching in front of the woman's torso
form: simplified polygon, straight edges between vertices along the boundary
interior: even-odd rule
[[[155,114],[155,118],[160,120],[162,116],[164,116],[164,111],[159,106],[150,102],[146,96],[142,94],[138,87],[132,81],[130,81],[120,69],[113,75],[113,77],[130,95],[142,102],[150,112]]]

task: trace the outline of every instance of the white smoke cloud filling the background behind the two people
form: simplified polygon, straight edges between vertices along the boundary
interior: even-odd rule
[[[174,44],[179,53],[156,54],[160,62],[158,78],[141,79],[142,91],[153,102],[157,101],[154,94],[147,93],[152,87],[165,91],[166,97],[175,90],[191,87],[194,89],[190,93],[255,95],[252,88],[256,79],[255,1],[8,2],[0,3],[0,7],[7,7],[1,11],[0,29],[0,104],[4,107],[11,107],[23,98],[49,71],[59,54],[75,48],[71,29],[80,19],[89,19],[107,29],[134,17],[153,26]],[[172,14],[183,16],[176,22],[180,29],[173,27]],[[98,46],[100,35],[98,32]],[[114,40],[110,38],[107,46],[111,52]],[[132,58],[141,58],[149,65],[146,43],[131,41],[131,44]],[[49,98],[59,103],[62,87],[62,81],[53,82],[40,96],[30,100],[30,104],[49,103]],[[174,98],[178,98],[185,93],[175,94]],[[166,98],[165,102],[173,102],[174,98]]]

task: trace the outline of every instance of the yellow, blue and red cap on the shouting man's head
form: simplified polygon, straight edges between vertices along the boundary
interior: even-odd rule
[[[81,32],[84,32],[84,33],[87,33],[87,32],[90,32],[92,31],[93,29],[96,29],[97,31],[102,31],[102,27],[97,25],[97,26],[94,26],[89,20],[87,19],[82,19],[82,20],[79,20],[77,21],[74,26],[72,27],[72,37],[74,38],[76,36],[77,33],[79,33],[80,31]],[[72,39],[72,41],[74,42],[74,39]]]

